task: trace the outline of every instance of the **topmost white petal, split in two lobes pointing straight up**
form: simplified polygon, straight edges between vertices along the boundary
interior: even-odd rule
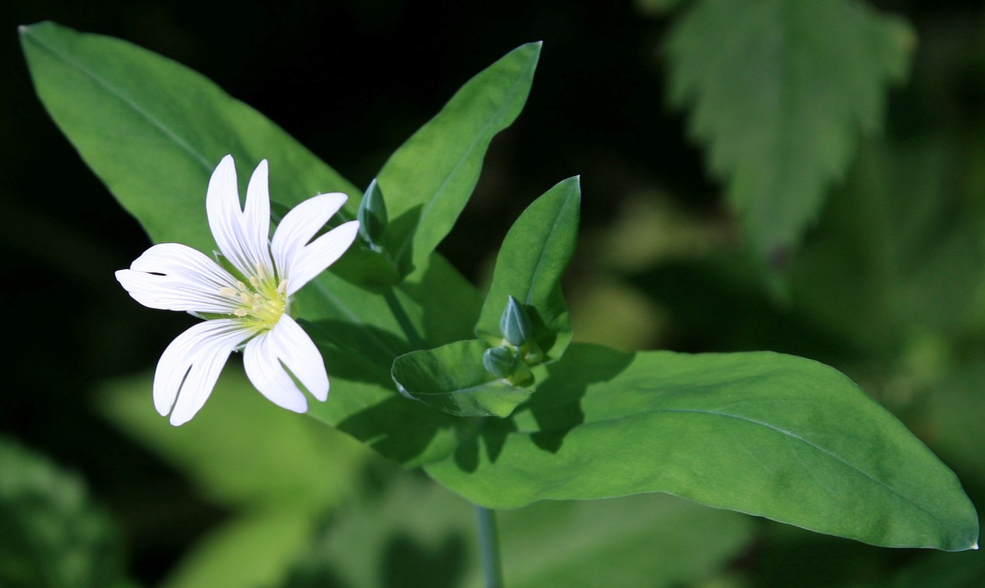
[[[239,188],[232,156],[223,158],[209,179],[209,189],[205,196],[209,228],[212,229],[219,250],[244,276],[255,275],[257,263],[263,263],[268,268],[271,264],[267,239],[270,232],[270,195],[267,193],[266,183],[267,163],[262,162],[250,180],[247,189],[248,211],[244,214],[239,205]],[[259,215],[264,217],[263,222],[257,221]]]

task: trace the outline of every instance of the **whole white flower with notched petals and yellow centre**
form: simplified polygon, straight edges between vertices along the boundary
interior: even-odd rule
[[[205,206],[220,252],[237,275],[179,243],[154,245],[129,270],[116,272],[141,304],[207,318],[178,335],[158,362],[154,406],[163,416],[170,414],[171,425],[195,416],[238,349],[250,382],[274,404],[303,413],[307,400],[301,387],[320,401],[328,398],[325,363],[289,310],[291,296],[356,239],[358,221],[311,240],[346,199],[332,193],[306,200],[268,238],[266,160],[253,171],[241,209],[235,165],[226,156],[209,180]]]

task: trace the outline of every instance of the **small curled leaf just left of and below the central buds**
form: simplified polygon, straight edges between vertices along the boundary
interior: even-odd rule
[[[483,364],[486,346],[475,339],[411,352],[393,361],[400,393],[456,417],[508,417],[533,388],[498,379]]]

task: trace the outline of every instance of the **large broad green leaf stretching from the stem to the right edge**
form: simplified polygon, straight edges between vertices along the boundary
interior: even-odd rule
[[[547,371],[428,474],[493,507],[664,491],[874,545],[977,543],[951,470],[821,363],[578,345]]]

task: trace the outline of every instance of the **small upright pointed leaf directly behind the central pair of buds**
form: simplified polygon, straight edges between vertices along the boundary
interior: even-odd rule
[[[560,277],[578,236],[581,188],[570,177],[548,190],[506,233],[496,257],[476,335],[499,345],[499,316],[510,295],[530,314],[534,336],[549,359],[558,359],[571,341],[571,318],[560,292]]]

